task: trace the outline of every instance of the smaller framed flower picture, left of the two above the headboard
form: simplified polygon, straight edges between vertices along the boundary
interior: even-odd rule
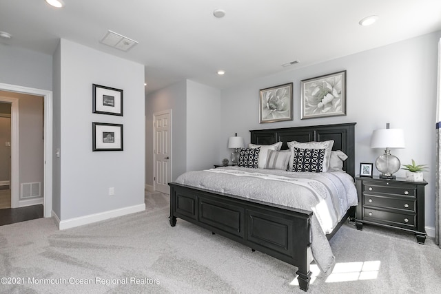
[[[293,83],[287,83],[260,90],[260,123],[275,123],[278,121],[293,120],[292,89]]]

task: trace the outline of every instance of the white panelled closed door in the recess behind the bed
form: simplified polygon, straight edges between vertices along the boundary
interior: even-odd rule
[[[153,114],[154,189],[170,194],[172,180],[172,109]]]

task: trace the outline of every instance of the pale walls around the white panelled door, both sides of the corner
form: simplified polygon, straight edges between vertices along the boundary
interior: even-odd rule
[[[145,99],[145,183],[153,185],[153,114],[172,109],[172,181],[185,171],[212,168],[219,160],[223,120],[220,90],[185,80]],[[227,141],[223,142],[227,145]]]

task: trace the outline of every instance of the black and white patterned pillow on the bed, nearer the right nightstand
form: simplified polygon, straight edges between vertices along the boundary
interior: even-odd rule
[[[294,147],[292,171],[320,173],[323,171],[324,158],[325,149],[302,149]]]

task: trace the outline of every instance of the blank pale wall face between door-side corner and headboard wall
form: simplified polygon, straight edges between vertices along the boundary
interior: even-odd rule
[[[218,134],[224,119],[220,90],[187,81],[187,171],[220,164]],[[227,140],[223,146],[227,145]]]

